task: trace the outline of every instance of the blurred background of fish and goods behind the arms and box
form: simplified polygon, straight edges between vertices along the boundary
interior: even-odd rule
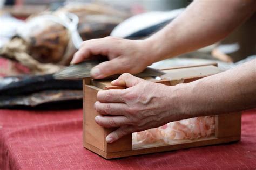
[[[67,101],[81,107],[82,83],[63,83],[52,74],[69,65],[82,41],[109,35],[144,39],[170,23],[191,2],[0,0],[0,108],[56,106]],[[254,13],[224,40],[151,67],[214,62],[223,70],[233,68],[255,58],[255,23]]]

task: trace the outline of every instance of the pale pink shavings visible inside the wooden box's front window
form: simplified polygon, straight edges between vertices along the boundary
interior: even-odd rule
[[[215,134],[215,116],[204,116],[167,123],[159,128],[132,133],[133,148],[173,144],[178,141],[211,137]]]

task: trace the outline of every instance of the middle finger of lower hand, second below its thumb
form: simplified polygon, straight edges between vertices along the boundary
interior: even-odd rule
[[[95,102],[95,109],[102,115],[126,115],[128,106],[124,103]]]

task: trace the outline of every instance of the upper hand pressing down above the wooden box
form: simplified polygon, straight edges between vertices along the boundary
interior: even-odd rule
[[[104,55],[110,60],[100,63],[91,70],[94,79],[120,73],[137,74],[152,63],[152,52],[145,40],[105,37],[84,41],[71,64],[82,62],[93,55]]]

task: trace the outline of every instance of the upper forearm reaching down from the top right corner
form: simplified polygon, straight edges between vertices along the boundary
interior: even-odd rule
[[[254,0],[194,1],[173,22],[145,40],[151,63],[223,39],[255,11]]]

